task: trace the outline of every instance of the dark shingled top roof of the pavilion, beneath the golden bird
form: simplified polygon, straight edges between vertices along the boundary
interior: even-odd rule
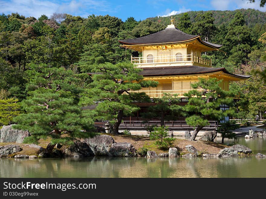
[[[180,31],[178,28],[166,28],[160,32],[156,32],[151,35],[147,35],[140,38],[135,39],[126,39],[126,40],[118,40],[122,44],[131,44],[131,45],[137,45],[137,44],[157,44],[157,43],[171,43],[171,42],[180,42],[180,41],[186,41],[193,38],[198,38],[200,35],[189,35],[187,33],[184,33]],[[219,44],[212,44],[210,42],[202,41],[199,39],[199,41],[212,46],[214,48],[220,48],[222,45]]]

